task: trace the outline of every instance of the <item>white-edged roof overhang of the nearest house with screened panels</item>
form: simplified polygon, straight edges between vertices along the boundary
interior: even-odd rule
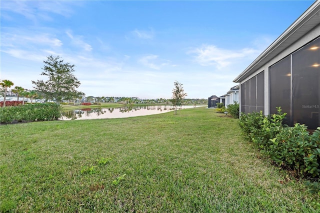
[[[309,30],[320,24],[320,0],[315,0],[271,45],[269,45],[233,82],[240,82]]]

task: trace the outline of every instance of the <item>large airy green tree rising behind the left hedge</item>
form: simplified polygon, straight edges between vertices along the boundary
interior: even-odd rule
[[[80,81],[73,75],[74,64],[65,63],[60,56],[48,56],[42,69],[41,75],[48,77],[48,80],[37,80],[32,83],[38,92],[44,94],[46,99],[55,100],[60,103],[63,99],[75,95],[78,91]]]

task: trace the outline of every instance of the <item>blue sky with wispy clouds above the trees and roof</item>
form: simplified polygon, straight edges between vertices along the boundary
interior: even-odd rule
[[[86,96],[223,95],[314,1],[0,1],[0,79],[32,89],[48,55]]]

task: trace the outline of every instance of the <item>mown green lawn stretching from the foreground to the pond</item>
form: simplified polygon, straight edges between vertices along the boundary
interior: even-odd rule
[[[1,125],[1,211],[316,212],[237,120],[204,107]]]

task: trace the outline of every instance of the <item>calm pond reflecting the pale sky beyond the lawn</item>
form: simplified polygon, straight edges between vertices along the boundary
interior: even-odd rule
[[[200,106],[200,105],[199,105]],[[193,108],[194,105],[179,106],[179,109]],[[82,108],[62,112],[63,120],[87,120],[87,119],[104,119],[134,117],[141,115],[159,114],[173,111],[172,105],[148,105],[148,106],[124,106],[116,108]]]

